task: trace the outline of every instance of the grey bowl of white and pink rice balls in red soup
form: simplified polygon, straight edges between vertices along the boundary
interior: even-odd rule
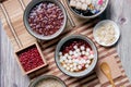
[[[94,70],[97,63],[97,49],[86,36],[71,35],[59,41],[55,61],[64,74],[83,77]]]

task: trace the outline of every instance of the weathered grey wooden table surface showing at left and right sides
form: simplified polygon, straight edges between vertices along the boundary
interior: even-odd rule
[[[110,0],[106,17],[114,20],[121,30],[121,38],[117,45],[119,57],[131,80],[131,0]],[[27,87],[29,79],[23,76],[13,55],[13,48],[0,24],[0,87]]]

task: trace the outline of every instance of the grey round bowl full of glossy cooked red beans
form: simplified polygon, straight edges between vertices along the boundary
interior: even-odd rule
[[[27,32],[41,40],[59,36],[67,24],[67,13],[59,0],[33,0],[23,16]]]

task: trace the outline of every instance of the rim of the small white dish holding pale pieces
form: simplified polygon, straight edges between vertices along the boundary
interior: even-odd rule
[[[95,30],[98,29],[97,27],[100,26],[100,24],[106,24],[106,23],[111,23],[111,24],[114,25],[114,27],[115,27],[116,33],[117,33],[117,39],[116,39],[112,44],[109,44],[109,45],[103,45],[103,44],[100,44],[99,41],[97,41],[96,36],[95,36]],[[119,29],[118,25],[117,25],[114,21],[111,21],[111,20],[100,21],[100,22],[97,23],[97,24],[95,25],[95,27],[93,28],[93,36],[94,36],[95,41],[96,41],[97,44],[99,44],[100,46],[104,46],[104,47],[111,47],[111,46],[116,45],[116,42],[117,42],[117,41],[119,40],[119,38],[120,38],[120,35],[121,35],[121,34],[120,34],[120,29]]]

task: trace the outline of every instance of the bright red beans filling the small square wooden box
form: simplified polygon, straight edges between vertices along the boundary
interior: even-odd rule
[[[19,53],[19,59],[25,72],[44,64],[36,47],[28,48]]]

